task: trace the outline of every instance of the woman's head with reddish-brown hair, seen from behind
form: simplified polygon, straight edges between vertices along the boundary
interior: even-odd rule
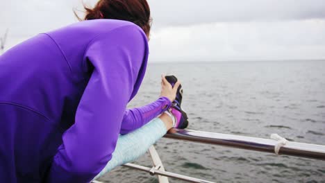
[[[150,8],[147,0],[99,0],[94,8],[85,7],[83,20],[121,19],[131,21],[149,37],[151,28]]]

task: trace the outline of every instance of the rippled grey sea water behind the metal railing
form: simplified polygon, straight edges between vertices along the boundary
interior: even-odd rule
[[[188,129],[325,145],[325,61],[152,63],[129,107],[158,98],[161,73],[181,80]],[[325,182],[320,160],[165,138],[156,148],[167,171],[213,182]],[[152,166],[149,155],[135,164]],[[100,180],[158,182],[123,167]]]

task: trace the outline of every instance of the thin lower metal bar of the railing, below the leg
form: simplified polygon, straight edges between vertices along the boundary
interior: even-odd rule
[[[160,171],[160,170],[155,169],[154,167],[153,168],[149,168],[149,167],[146,167],[146,166],[140,166],[138,164],[124,164],[122,166],[126,166],[128,168],[137,169],[139,171],[144,171],[144,172],[150,173],[150,175],[163,175],[163,176],[166,176],[166,177],[176,178],[178,180],[185,180],[187,182],[215,183],[215,182],[210,182],[210,181],[207,181],[207,180],[200,180],[200,179],[197,179],[197,178],[194,178],[194,177],[188,177],[188,176],[185,176],[185,175],[179,175],[177,173],[171,173],[171,172],[167,172],[167,171]]]

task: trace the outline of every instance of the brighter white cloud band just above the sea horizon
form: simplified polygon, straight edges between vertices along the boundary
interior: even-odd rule
[[[324,21],[231,22],[178,26],[153,33],[153,61],[325,58]]]

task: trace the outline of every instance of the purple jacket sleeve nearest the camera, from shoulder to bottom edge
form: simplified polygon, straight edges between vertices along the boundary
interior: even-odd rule
[[[94,70],[75,123],[63,134],[53,158],[48,182],[90,182],[110,161],[126,104],[143,78],[139,72],[145,70],[147,49],[147,37],[134,25],[115,28],[90,42],[85,62]]]

